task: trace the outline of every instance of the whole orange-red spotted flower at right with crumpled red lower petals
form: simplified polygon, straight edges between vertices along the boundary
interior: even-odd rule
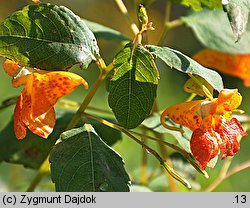
[[[242,101],[237,89],[223,89],[218,98],[198,100],[173,105],[161,115],[165,126],[165,116],[175,123],[193,131],[190,148],[200,167],[205,169],[207,163],[221,152],[224,159],[234,156],[240,148],[237,136],[246,136],[240,122],[232,116]]]

